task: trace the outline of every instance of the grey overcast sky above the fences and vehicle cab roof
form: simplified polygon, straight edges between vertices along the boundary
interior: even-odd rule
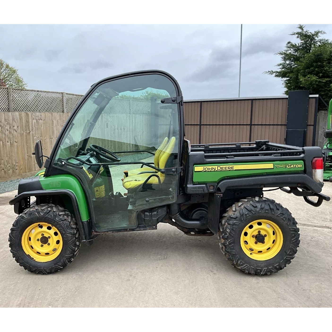
[[[326,31],[332,25],[306,27]],[[280,95],[274,69],[289,25],[243,25],[241,97]],[[115,74],[162,69],[185,99],[237,97],[240,24],[229,25],[0,25],[0,58],[19,70],[29,89],[84,94]]]

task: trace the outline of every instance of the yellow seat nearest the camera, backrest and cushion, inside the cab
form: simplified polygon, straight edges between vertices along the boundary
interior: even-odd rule
[[[174,150],[175,140],[176,140],[175,137],[172,137],[169,140],[169,142],[168,142],[167,146],[165,147],[165,149],[162,151],[162,156],[159,157],[159,168],[164,168],[165,167],[169,156],[171,155],[171,153]],[[155,173],[155,174],[160,178],[160,182],[163,183],[164,179],[165,179],[165,174],[162,174],[160,172]],[[127,190],[138,187],[141,184],[143,184],[144,181],[150,175],[151,175],[151,173],[144,173],[144,174],[136,174],[136,175],[128,176],[122,181],[122,185]],[[147,183],[158,184],[158,178],[153,176],[149,179],[149,181]]]

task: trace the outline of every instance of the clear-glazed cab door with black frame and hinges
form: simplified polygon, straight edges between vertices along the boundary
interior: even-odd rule
[[[84,184],[95,230],[136,228],[139,211],[176,201],[183,138],[180,89],[167,73],[140,72],[105,79],[84,98],[52,167]],[[119,160],[105,159],[96,147]]]

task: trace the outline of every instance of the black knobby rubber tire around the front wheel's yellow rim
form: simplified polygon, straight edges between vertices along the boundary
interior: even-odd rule
[[[35,223],[50,224],[60,233],[62,241],[61,252],[50,261],[38,262],[32,259],[31,256],[29,257],[23,250],[22,235],[29,226],[31,227]],[[80,234],[74,216],[65,208],[54,204],[33,206],[21,213],[10,229],[8,241],[10,252],[13,254],[16,262],[25,270],[36,274],[50,274],[63,269],[74,260],[81,246]],[[40,240],[38,239],[37,241]],[[49,256],[49,258],[51,257]]]

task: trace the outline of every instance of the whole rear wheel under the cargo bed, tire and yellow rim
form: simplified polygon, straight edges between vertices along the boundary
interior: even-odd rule
[[[282,270],[300,243],[297,222],[281,204],[247,198],[229,207],[219,224],[219,246],[230,263],[245,273]]]

